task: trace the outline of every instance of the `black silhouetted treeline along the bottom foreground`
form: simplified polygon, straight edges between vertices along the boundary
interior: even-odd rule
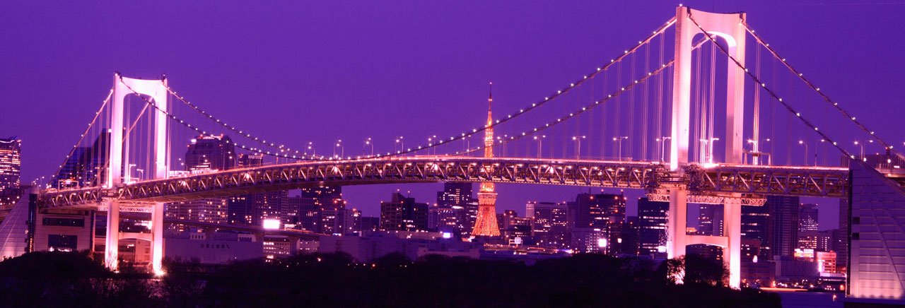
[[[167,275],[113,274],[85,254],[0,262],[0,305],[53,307],[779,307],[776,294],[725,287],[725,267],[689,256],[656,263],[577,255],[534,266],[344,254],[251,260],[211,270],[168,260]],[[686,266],[684,285],[668,277]]]

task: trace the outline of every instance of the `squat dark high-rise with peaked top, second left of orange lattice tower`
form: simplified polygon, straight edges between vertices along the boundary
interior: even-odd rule
[[[380,202],[380,229],[426,231],[427,203],[417,203],[414,198],[406,198],[399,192],[393,193],[392,201]]]

